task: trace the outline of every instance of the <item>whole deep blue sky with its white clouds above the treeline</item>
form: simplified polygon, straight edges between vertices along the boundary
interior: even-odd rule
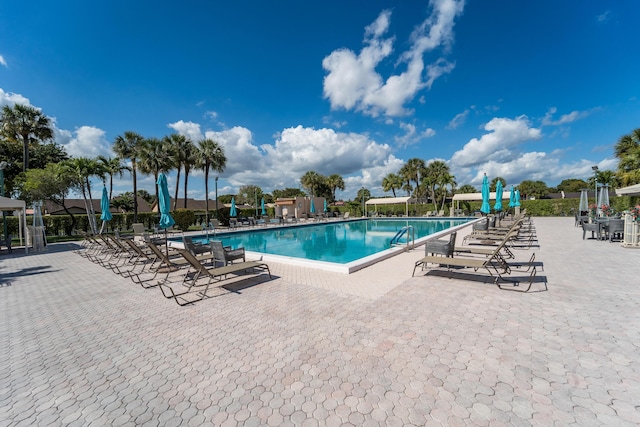
[[[345,178],[338,197],[383,195],[412,157],[458,185],[553,186],[615,169],[640,126],[638,16],[631,0],[0,0],[0,104],[41,108],[74,156],[113,155],[127,130],[213,138],[219,194],[315,170]],[[189,186],[204,198],[202,172]]]

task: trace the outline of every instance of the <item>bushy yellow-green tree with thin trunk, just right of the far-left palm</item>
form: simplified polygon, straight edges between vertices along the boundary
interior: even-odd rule
[[[71,218],[65,232],[70,236],[76,227],[76,217],[65,205],[69,189],[77,184],[75,176],[64,169],[63,163],[49,163],[44,169],[29,169],[20,177],[20,198],[27,202],[49,200],[62,206]]]

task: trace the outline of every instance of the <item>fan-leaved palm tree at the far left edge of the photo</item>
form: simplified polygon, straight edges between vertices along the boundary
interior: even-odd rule
[[[27,105],[5,105],[0,114],[0,134],[22,144],[22,170],[29,169],[29,146],[53,139],[51,121],[40,110]]]

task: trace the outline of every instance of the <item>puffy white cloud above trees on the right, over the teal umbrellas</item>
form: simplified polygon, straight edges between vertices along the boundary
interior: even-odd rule
[[[457,167],[473,167],[487,161],[508,162],[515,156],[509,149],[523,142],[540,139],[540,129],[532,128],[526,116],[516,119],[493,118],[484,129],[486,133],[473,138],[465,146],[456,151],[451,162]]]

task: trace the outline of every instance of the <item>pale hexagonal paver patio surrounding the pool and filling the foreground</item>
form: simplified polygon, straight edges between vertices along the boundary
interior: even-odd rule
[[[640,424],[640,250],[534,221],[527,294],[416,249],[179,307],[69,244],[3,254],[0,426]]]

